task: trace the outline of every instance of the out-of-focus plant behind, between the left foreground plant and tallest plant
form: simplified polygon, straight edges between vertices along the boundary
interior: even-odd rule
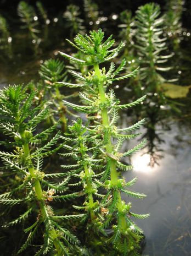
[[[62,103],[64,95],[60,93],[60,86],[63,86],[64,81],[67,79],[64,69],[64,63],[58,59],[44,61],[39,72],[43,85],[38,86],[41,94],[49,101],[52,101],[52,118],[59,113],[63,132],[67,128],[66,107]]]

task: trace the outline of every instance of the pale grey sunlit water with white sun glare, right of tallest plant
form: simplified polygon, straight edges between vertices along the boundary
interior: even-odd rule
[[[158,127],[159,128],[159,127]],[[182,134],[182,136],[181,136]],[[186,134],[186,135],[184,135]],[[182,137],[182,143],[177,138]],[[150,213],[149,219],[138,221],[143,228],[146,244],[143,255],[191,255],[191,136],[186,127],[171,125],[162,134],[163,158],[151,167],[150,155],[138,152],[132,156],[134,172],[126,172],[127,179],[138,177],[134,190],[148,195],[133,200],[134,211]],[[134,141],[128,147],[134,146]],[[133,145],[131,145],[133,144]],[[147,149],[145,149],[146,151]],[[123,197],[128,200],[128,198]]]

